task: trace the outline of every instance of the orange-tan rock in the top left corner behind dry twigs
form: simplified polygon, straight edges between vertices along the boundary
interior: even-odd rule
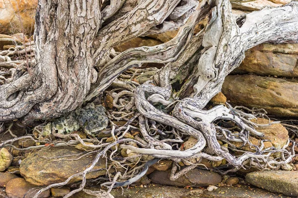
[[[1,0],[0,34],[33,34],[38,0]]]

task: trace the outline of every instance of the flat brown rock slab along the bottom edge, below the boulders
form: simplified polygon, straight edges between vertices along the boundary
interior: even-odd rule
[[[99,188],[87,188],[98,191]],[[270,193],[256,187],[237,185],[237,187],[220,187],[212,192],[205,188],[179,188],[173,186],[149,185],[147,188],[121,188],[111,191],[114,198],[287,198],[283,195]],[[96,198],[84,192],[74,194],[72,198]]]

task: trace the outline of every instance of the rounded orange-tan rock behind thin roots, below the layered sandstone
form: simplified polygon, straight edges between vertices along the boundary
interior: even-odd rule
[[[258,118],[257,120],[252,119],[251,121],[256,124],[268,124],[269,123],[269,120],[263,119],[263,118]],[[257,127],[256,130],[258,132],[264,133],[265,137],[263,137],[261,139],[270,140],[270,142],[264,142],[264,149],[270,148],[272,146],[275,148],[283,148],[289,140],[288,130],[281,124],[272,124],[267,127]],[[250,137],[249,140],[253,145],[257,145],[259,147],[261,146],[260,140],[254,138],[254,137]],[[238,148],[242,146],[242,143],[239,143],[239,142],[231,142],[231,143]],[[250,148],[249,145],[245,145],[241,149],[255,152],[255,150]]]

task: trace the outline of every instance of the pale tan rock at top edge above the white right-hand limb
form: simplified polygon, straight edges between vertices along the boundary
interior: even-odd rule
[[[233,9],[239,9],[243,11],[256,11],[266,6],[279,7],[283,5],[283,4],[271,2],[269,0],[250,0],[250,1],[231,0],[230,2],[232,4]]]

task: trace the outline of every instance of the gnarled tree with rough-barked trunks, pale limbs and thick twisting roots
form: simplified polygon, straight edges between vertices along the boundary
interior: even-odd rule
[[[195,25],[206,17],[207,26],[194,35]],[[133,38],[178,28],[177,36],[167,43],[114,54],[115,46]],[[234,18],[228,0],[110,0],[108,5],[98,0],[39,0],[35,60],[25,71],[16,68],[12,82],[0,86],[0,121],[29,123],[61,116],[101,95],[125,70],[164,63],[153,81],[134,92],[140,129],[149,146],[123,144],[121,148],[176,161],[225,158],[236,169],[247,160],[274,167],[291,160],[292,153],[285,149],[288,144],[235,157],[219,145],[219,131],[225,134],[227,130],[214,121],[231,120],[240,126],[239,134],[225,134],[227,141],[247,142],[245,134],[263,134],[240,111],[223,105],[203,110],[221,91],[225,76],[239,66],[244,51],[264,42],[298,43],[298,2]],[[171,115],[153,105],[170,105],[170,98],[176,102]],[[198,142],[188,150],[174,150],[148,136],[148,120],[171,126]],[[270,158],[277,151],[282,152],[282,160]]]

